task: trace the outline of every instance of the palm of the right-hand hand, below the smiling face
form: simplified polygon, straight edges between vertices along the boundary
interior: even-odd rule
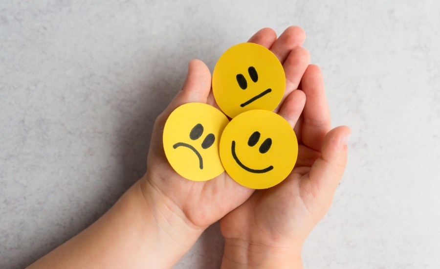
[[[312,162],[306,160],[306,156],[318,155],[304,144],[299,146],[299,165]],[[283,182],[269,189],[255,191],[240,207],[226,215],[220,221],[223,235],[226,238],[245,236],[252,239],[252,233],[257,231],[258,239],[252,240],[267,246],[279,241],[304,241],[304,235],[310,232],[325,212],[320,204],[324,207],[325,204],[315,198],[311,189],[308,180],[311,165],[299,165],[295,165]]]

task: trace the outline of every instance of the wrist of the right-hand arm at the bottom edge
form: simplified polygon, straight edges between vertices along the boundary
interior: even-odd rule
[[[303,268],[301,246],[225,239],[221,268]]]

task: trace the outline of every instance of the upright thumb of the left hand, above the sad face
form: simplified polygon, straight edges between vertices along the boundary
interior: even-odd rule
[[[211,90],[211,72],[200,60],[191,60],[188,74],[182,90],[180,90],[162,113],[168,117],[177,107],[186,103],[206,103]]]

